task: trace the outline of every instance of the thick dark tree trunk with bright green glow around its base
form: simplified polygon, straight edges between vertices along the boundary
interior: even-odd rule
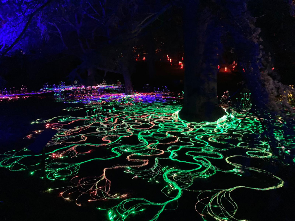
[[[216,121],[224,115],[218,106],[217,98],[217,67],[213,60],[216,53],[210,52],[205,56],[207,35],[213,30],[210,11],[200,13],[199,1],[188,0],[183,9],[183,38],[184,38],[184,99],[179,112],[181,119],[186,121]],[[202,19],[202,18],[207,18]],[[211,46],[214,47],[214,46]],[[211,50],[210,50],[211,51]],[[213,50],[214,51],[214,50]]]

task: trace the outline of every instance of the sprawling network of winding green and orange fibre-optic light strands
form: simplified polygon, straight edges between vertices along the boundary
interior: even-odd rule
[[[113,92],[99,93],[100,87]],[[42,154],[35,155],[27,148],[1,154],[0,166],[11,171],[28,170],[32,176],[49,179],[54,187],[47,192],[59,192],[60,197],[78,206],[94,204],[98,212],[107,213],[109,220],[157,220],[171,206],[177,210],[184,191],[196,194],[195,209],[204,221],[238,220],[232,191],[265,191],[284,184],[268,171],[235,163],[235,159],[275,158],[267,141],[260,137],[260,122],[247,114],[246,108],[251,107],[248,94],[241,94],[239,113],[224,108],[224,116],[215,122],[191,123],[179,118],[181,97],[167,89],[134,95],[117,93],[114,85],[63,89],[71,92],[63,96],[63,102],[78,106],[64,109],[68,113],[64,116],[32,122],[58,131],[46,145],[45,174],[38,163]],[[228,105],[228,98],[228,91],[224,92],[221,103]],[[41,132],[34,131],[25,138],[33,139]],[[257,135],[255,146],[248,139],[253,134]],[[281,153],[289,154],[290,149],[285,148],[288,142],[280,146],[283,132],[276,137]],[[231,150],[240,154],[227,156]],[[242,177],[245,172],[261,174],[273,182],[264,187],[196,188],[198,180],[215,174]],[[132,189],[118,188],[112,176],[116,181],[124,177],[122,183],[141,179],[160,195],[156,200],[137,197],[141,192],[132,197]]]

